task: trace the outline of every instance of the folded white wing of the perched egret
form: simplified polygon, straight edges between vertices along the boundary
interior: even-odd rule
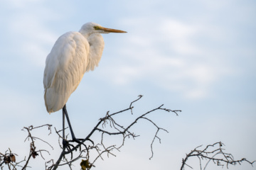
[[[53,45],[43,76],[49,113],[63,108],[78,87],[88,64],[89,48],[87,40],[78,32],[65,33]]]

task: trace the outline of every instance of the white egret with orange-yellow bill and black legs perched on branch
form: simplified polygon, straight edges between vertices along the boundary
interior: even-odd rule
[[[46,110],[53,113],[63,109],[63,137],[66,115],[75,142],[78,140],[70,125],[65,103],[80,84],[83,74],[95,69],[100,62],[104,48],[104,40],[100,33],[127,32],[104,28],[97,23],[85,23],[79,32],[61,35],[46,58],[43,74]]]

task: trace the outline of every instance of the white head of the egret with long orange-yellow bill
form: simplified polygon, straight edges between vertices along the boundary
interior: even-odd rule
[[[124,30],[115,30],[112,28],[105,28],[97,23],[85,23],[79,30],[83,35],[90,35],[92,33],[127,33]]]

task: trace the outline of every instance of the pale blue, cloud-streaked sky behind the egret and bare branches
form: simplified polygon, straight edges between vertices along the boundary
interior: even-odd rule
[[[128,33],[103,35],[99,67],[85,74],[70,96],[67,107],[77,136],[139,94],[144,97],[137,115],[162,103],[183,111],[178,117],[152,116],[169,133],[161,133],[151,161],[154,128],[142,122],[134,127],[141,137],[127,140],[117,157],[105,157],[97,169],[130,169],[127,160],[133,169],[179,169],[191,149],[218,141],[237,159],[256,159],[255,1],[11,0],[0,6],[0,152],[10,147],[23,159],[28,151],[23,126],[61,128],[61,112],[48,115],[44,106],[46,56],[60,35],[93,21]],[[31,166],[44,167],[38,162]]]

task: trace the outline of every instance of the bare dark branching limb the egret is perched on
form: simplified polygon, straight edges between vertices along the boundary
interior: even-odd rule
[[[102,158],[102,154],[107,154],[107,156],[109,155],[114,155],[113,151],[114,150],[119,150],[119,148],[121,148],[122,146],[124,146],[124,141],[127,137],[138,137],[138,135],[135,135],[134,132],[132,132],[130,129],[139,122],[139,120],[146,120],[149,123],[151,123],[152,125],[154,125],[156,127],[156,134],[154,135],[154,138],[151,142],[151,157],[150,159],[153,157],[154,152],[153,152],[153,143],[155,141],[155,139],[158,139],[159,142],[161,142],[160,137],[158,136],[158,132],[160,130],[164,130],[165,132],[168,132],[167,130],[165,130],[164,128],[160,128],[158,125],[156,125],[156,123],[154,123],[153,120],[147,118],[146,116],[154,113],[156,111],[166,111],[166,112],[170,112],[170,113],[175,113],[176,115],[178,115],[178,112],[181,111],[172,111],[171,109],[168,108],[163,108],[164,105],[159,106],[158,108],[154,108],[151,111],[148,111],[142,115],[140,115],[139,117],[135,118],[131,123],[129,123],[129,125],[124,126],[124,125],[120,125],[119,123],[117,123],[117,120],[114,120],[114,117],[116,115],[119,114],[124,114],[127,113],[127,111],[130,111],[133,114],[132,109],[134,108],[133,104],[137,101],[139,101],[139,99],[142,98],[142,95],[139,95],[138,98],[134,101],[132,101],[129,105],[129,108],[126,108],[122,111],[118,111],[116,113],[110,113],[107,112],[105,117],[100,118],[99,122],[95,125],[95,128],[93,128],[91,130],[91,132],[87,135],[87,137],[85,137],[82,142],[80,144],[77,145],[72,145],[73,148],[63,148],[63,151],[60,154],[60,157],[58,158],[57,162],[55,162],[55,164],[53,164],[52,166],[48,167],[48,170],[51,169],[57,169],[58,166],[63,166],[66,164],[70,164],[72,162],[75,162],[76,160],[80,159],[80,158],[85,158],[85,162],[87,162],[87,164],[89,165],[88,167],[86,167],[86,169],[90,169],[92,166],[94,166],[95,162],[97,159]],[[111,128],[112,130],[105,130],[105,128]],[[113,131],[114,130],[114,131]],[[56,132],[60,132],[57,131]],[[95,134],[95,132],[101,132],[101,142],[97,143],[95,145],[95,142],[91,139],[92,135]],[[59,137],[61,137],[60,134],[58,134]],[[110,146],[105,146],[105,142],[104,142],[104,137],[105,135],[120,135],[122,136],[122,145],[120,146],[116,146],[116,145],[110,145]],[[70,142],[69,140],[65,139],[67,142]],[[89,142],[89,143],[88,143]],[[81,148],[84,149],[81,149]],[[78,155],[78,157],[73,158],[73,152],[77,151],[79,149],[80,154]],[[90,164],[89,162],[89,158],[90,158],[90,152],[95,151],[97,152],[98,156],[95,157],[95,159],[93,159],[92,164]],[[83,156],[83,154],[85,154],[85,157]],[[60,162],[63,160],[63,158],[65,157],[65,155],[71,155],[71,159],[68,162],[65,162],[63,164],[60,164]],[[82,162],[81,162],[82,164]],[[81,165],[82,166],[82,165]]]

